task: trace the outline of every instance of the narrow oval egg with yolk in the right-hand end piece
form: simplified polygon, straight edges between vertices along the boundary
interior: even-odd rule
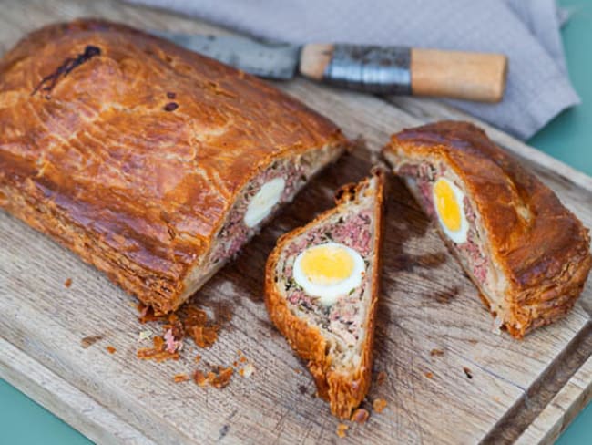
[[[439,178],[432,189],[434,208],[444,233],[454,241],[466,242],[469,222],[464,214],[464,193],[452,181]]]

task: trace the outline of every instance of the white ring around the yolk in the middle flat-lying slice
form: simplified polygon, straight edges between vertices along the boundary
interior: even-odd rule
[[[326,246],[333,246],[339,247],[347,252],[352,257],[353,260],[353,270],[350,276],[344,278],[339,283],[334,283],[332,285],[320,285],[316,283],[312,283],[309,280],[308,276],[304,274],[301,267],[302,255],[305,252],[309,252],[312,249],[318,249],[320,247]],[[348,295],[352,289],[359,287],[362,285],[362,278],[365,272],[365,264],[363,262],[362,256],[354,251],[352,248],[342,244],[342,243],[323,243],[313,245],[307,249],[304,249],[298,256],[296,257],[296,261],[294,262],[293,268],[293,276],[294,280],[298,285],[301,285],[302,289],[307,295],[319,298],[319,303],[321,305],[333,305],[337,299],[342,295]]]

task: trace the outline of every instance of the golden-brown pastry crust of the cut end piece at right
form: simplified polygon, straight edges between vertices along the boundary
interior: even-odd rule
[[[431,160],[464,182],[493,261],[508,281],[505,327],[512,336],[522,337],[571,309],[592,263],[588,231],[482,129],[458,121],[404,129],[383,153],[395,173],[409,160]]]

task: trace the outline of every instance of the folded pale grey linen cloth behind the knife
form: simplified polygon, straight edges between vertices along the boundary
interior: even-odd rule
[[[555,0],[128,0],[293,43],[407,45],[504,53],[499,104],[447,100],[527,139],[579,103],[567,76]]]

